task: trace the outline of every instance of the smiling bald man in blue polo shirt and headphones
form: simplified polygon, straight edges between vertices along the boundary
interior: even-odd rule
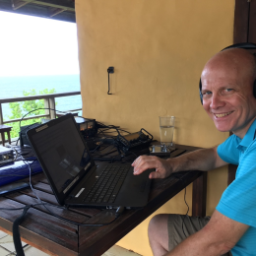
[[[248,50],[230,48],[216,54],[201,76],[203,107],[219,131],[232,131],[233,135],[218,147],[179,158],[142,156],[133,162],[135,175],[156,168],[150,178],[181,170],[211,170],[227,163],[238,165],[236,178],[210,221],[178,215],[151,220],[149,238],[155,256],[256,255],[255,79],[255,58]]]

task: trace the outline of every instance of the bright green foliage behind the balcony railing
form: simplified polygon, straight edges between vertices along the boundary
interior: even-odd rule
[[[42,91],[39,91],[37,94],[34,89],[32,89],[30,92],[23,92],[24,96],[36,96],[36,95],[49,95],[49,94],[54,94],[56,93],[55,89],[44,89]],[[57,104],[57,103],[56,103]],[[44,99],[33,99],[33,100],[27,100],[23,102],[12,102],[9,103],[9,106],[12,110],[12,115],[8,115],[9,119],[18,119],[22,118],[25,114],[31,112],[34,109],[37,108],[44,108]],[[47,111],[47,110],[46,110]],[[28,114],[27,116],[33,116],[33,115],[39,115],[39,114],[44,114],[45,110],[44,109],[39,109],[32,111],[32,113]],[[22,121],[22,126],[25,125],[30,125],[35,122],[40,122],[40,118],[32,118],[30,120],[24,120]],[[12,126],[12,131],[11,131],[11,137],[12,138],[17,138],[19,136],[19,131],[20,131],[20,122],[14,122],[8,124]]]

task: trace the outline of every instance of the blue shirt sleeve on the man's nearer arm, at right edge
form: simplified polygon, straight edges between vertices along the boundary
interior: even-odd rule
[[[236,222],[256,227],[256,147],[248,150],[216,209]]]

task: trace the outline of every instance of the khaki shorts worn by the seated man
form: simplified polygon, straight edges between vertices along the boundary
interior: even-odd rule
[[[184,220],[184,222],[183,222]],[[168,217],[168,249],[171,251],[180,242],[185,240],[189,235],[202,229],[208,222],[210,217],[189,217],[184,215],[169,215]],[[182,228],[183,226],[183,228]],[[231,252],[227,252],[224,256],[231,256]]]

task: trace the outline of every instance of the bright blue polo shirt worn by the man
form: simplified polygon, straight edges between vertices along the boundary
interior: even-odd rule
[[[256,255],[256,120],[244,138],[230,136],[218,147],[222,160],[237,164],[235,180],[224,190],[217,210],[250,227],[232,248],[233,256]]]

